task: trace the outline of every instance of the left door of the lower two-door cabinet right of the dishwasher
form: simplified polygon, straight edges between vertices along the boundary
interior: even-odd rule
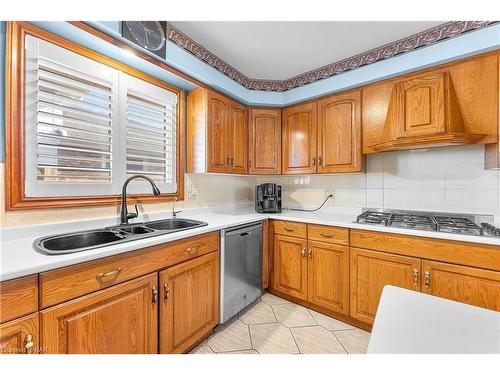
[[[307,299],[307,240],[274,237],[273,288],[289,296]]]

